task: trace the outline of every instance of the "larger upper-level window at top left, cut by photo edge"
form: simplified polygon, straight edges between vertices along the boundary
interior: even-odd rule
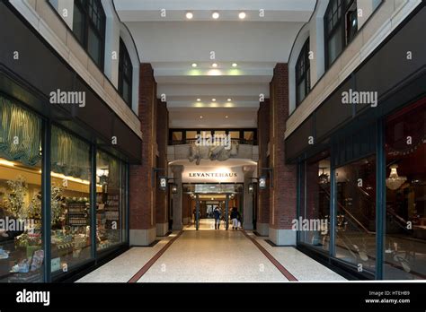
[[[103,69],[105,13],[101,0],[74,1],[73,32],[93,62]]]

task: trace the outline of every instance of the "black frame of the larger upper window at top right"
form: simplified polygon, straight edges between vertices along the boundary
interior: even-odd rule
[[[336,4],[335,7],[333,7]],[[351,10],[355,5],[355,10]],[[336,10],[334,10],[334,8]],[[355,13],[357,19],[356,31],[350,31],[348,29],[348,14]],[[353,16],[353,15],[351,15]],[[341,30],[342,49],[336,53],[336,57],[333,61],[330,60],[330,51],[328,48],[330,39],[333,38],[334,34]],[[355,38],[358,30],[358,7],[356,0],[330,0],[327,9],[324,13],[324,52],[325,52],[325,70],[331,67],[333,63],[341,56],[342,52]]]

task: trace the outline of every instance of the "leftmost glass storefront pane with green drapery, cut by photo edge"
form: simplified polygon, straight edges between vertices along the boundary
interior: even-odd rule
[[[0,97],[0,282],[42,282],[41,120]]]

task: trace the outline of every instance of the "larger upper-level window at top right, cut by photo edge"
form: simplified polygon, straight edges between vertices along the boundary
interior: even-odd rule
[[[330,0],[324,15],[326,68],[333,64],[357,31],[356,0]]]

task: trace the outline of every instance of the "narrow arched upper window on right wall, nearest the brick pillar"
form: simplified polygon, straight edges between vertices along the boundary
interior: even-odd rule
[[[309,39],[306,39],[296,62],[296,106],[306,98],[310,90]]]

